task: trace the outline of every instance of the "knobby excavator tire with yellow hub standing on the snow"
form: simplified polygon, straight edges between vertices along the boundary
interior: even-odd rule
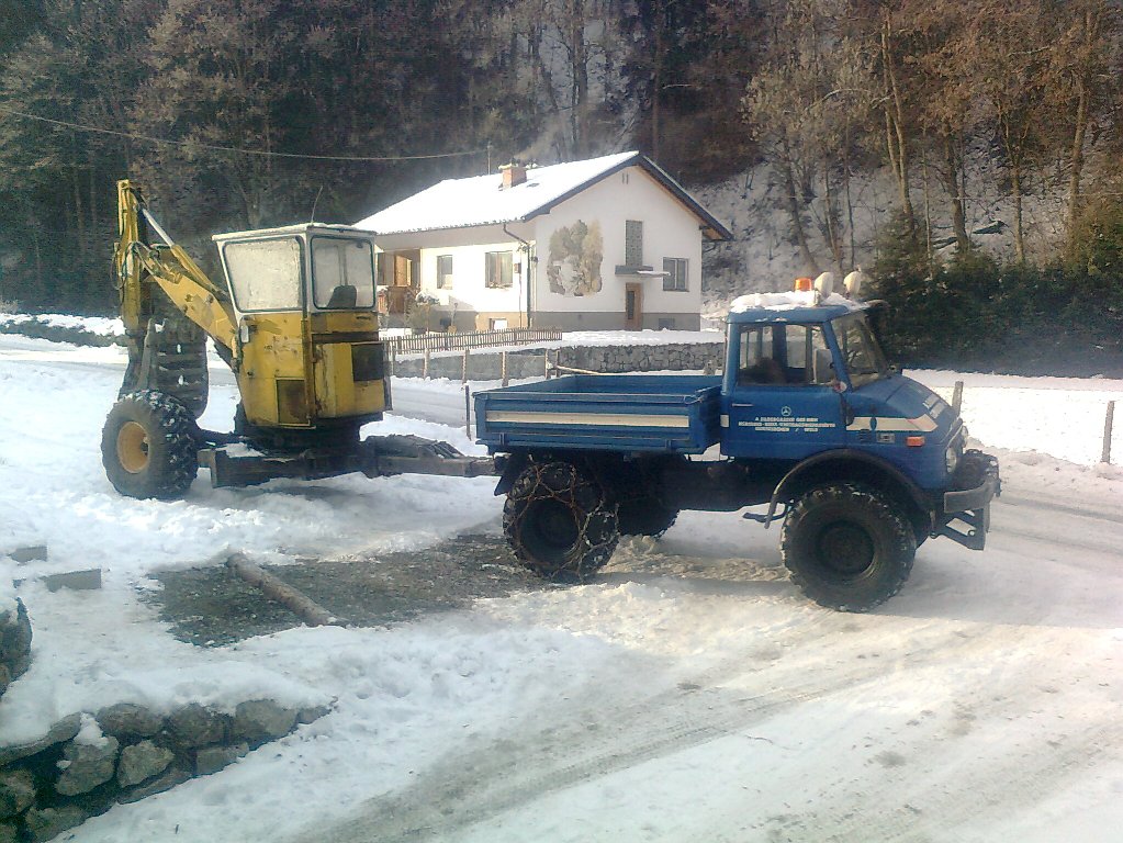
[[[126,497],[174,501],[199,471],[195,421],[186,407],[156,390],[118,398],[101,432],[106,475]]]

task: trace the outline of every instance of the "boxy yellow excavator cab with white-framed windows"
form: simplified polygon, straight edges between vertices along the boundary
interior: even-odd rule
[[[235,323],[239,423],[299,445],[387,409],[371,233],[308,223],[213,237]]]

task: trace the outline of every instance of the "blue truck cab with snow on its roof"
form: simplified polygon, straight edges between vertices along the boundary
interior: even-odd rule
[[[896,467],[920,488],[947,487],[967,431],[939,395],[889,366],[868,305],[761,305],[742,300],[728,320],[721,452],[803,460],[836,449]]]

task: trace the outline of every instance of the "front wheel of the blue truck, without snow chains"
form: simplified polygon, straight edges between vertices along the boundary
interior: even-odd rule
[[[780,552],[792,581],[815,603],[866,612],[909,579],[916,535],[880,493],[838,484],[796,502],[784,520]]]

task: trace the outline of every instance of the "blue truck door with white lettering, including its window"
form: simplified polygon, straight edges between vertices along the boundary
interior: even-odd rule
[[[737,372],[723,396],[725,456],[802,459],[842,445],[842,402],[820,326],[742,324],[730,341]]]

